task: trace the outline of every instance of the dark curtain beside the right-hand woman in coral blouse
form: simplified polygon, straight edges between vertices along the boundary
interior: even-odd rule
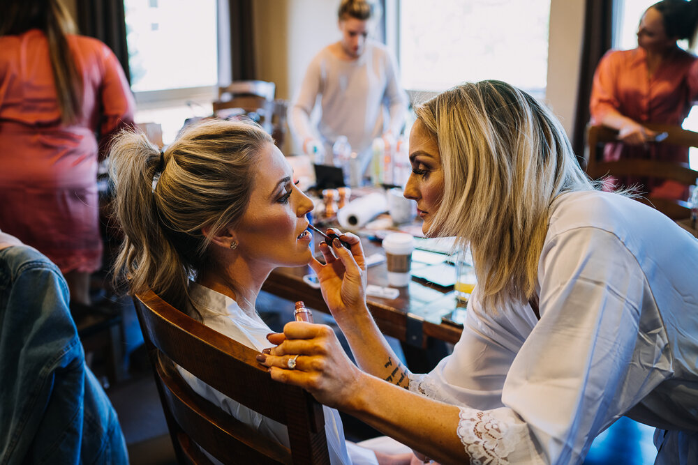
[[[584,137],[591,118],[589,98],[596,65],[611,48],[613,34],[614,0],[586,0],[584,12],[584,38],[579,66],[577,112],[574,116],[572,148],[580,163],[584,162]],[[582,165],[583,167],[585,165]]]

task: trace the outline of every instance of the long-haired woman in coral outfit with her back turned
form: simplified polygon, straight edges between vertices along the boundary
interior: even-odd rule
[[[101,265],[98,158],[135,105],[111,50],[73,29],[57,0],[3,3],[0,227],[61,268],[75,308]]]

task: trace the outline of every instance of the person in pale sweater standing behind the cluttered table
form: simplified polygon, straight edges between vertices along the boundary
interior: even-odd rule
[[[344,135],[359,155],[361,172],[371,162],[373,139],[397,137],[407,110],[394,56],[367,38],[373,8],[367,0],[342,0],[342,38],[315,55],[289,110],[290,129],[304,152],[319,150],[329,162],[332,145]],[[321,116],[315,128],[310,114],[318,96]]]

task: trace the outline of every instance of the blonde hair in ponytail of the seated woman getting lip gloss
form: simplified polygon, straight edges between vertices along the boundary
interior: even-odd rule
[[[126,278],[129,294],[152,289],[174,307],[193,307],[188,280],[216,272],[211,235],[242,218],[258,153],[273,143],[258,125],[210,120],[186,128],[161,155],[145,135],[121,132],[110,155],[125,236],[114,280]]]

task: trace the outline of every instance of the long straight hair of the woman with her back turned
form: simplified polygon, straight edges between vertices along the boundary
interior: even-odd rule
[[[82,106],[82,76],[67,38],[75,33],[73,18],[59,0],[10,0],[3,5],[0,36],[16,36],[29,29],[39,29],[46,36],[61,121],[73,123]]]

